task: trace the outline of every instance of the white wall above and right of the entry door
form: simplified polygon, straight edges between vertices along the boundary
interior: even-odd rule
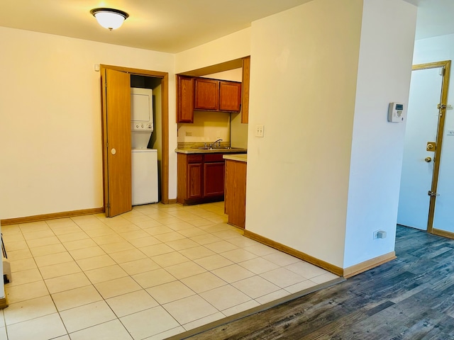
[[[436,38],[416,40],[413,64],[454,60],[454,34]],[[454,64],[451,64],[448,104],[454,106]],[[441,152],[440,173],[438,174],[437,192],[433,227],[447,232],[454,232],[454,137],[448,136],[448,130],[454,129],[454,111],[447,110],[445,116],[445,130],[443,149]]]

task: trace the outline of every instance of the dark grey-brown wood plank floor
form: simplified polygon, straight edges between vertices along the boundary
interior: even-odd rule
[[[398,226],[396,255],[187,339],[454,339],[454,240]]]

